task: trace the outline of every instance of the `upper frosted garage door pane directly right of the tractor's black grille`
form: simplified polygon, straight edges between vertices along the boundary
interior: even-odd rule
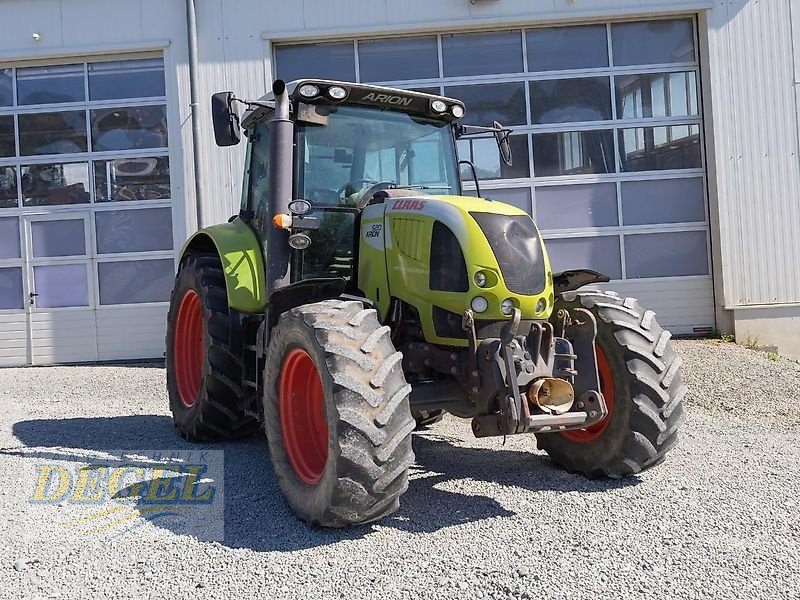
[[[545,240],[553,272],[567,269],[594,269],[611,279],[622,278],[619,238],[561,238]]]

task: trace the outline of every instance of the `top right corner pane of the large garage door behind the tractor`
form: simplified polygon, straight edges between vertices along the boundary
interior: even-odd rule
[[[696,60],[691,19],[614,23],[611,43],[616,66]]]

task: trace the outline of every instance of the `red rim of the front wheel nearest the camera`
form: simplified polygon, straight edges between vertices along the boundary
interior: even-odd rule
[[[328,460],[328,424],[322,381],[305,350],[294,348],[286,355],[279,393],[286,455],[300,480],[313,485],[322,478]]]

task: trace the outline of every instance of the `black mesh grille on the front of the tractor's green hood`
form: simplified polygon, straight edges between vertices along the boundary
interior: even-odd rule
[[[486,236],[509,291],[533,296],[544,291],[542,243],[528,216],[471,212]]]

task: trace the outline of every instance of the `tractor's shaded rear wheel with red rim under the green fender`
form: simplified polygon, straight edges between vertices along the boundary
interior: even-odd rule
[[[230,336],[222,264],[214,255],[191,255],[172,290],[166,340],[169,406],[187,440],[229,440],[258,430],[238,406],[242,357]]]

